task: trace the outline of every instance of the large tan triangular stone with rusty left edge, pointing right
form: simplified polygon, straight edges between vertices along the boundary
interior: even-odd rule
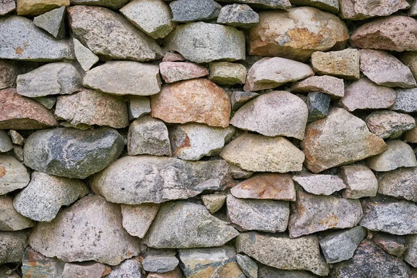
[[[382,138],[368,131],[363,120],[342,108],[332,108],[327,117],[308,124],[301,147],[306,167],[314,173],[360,161],[387,148]]]

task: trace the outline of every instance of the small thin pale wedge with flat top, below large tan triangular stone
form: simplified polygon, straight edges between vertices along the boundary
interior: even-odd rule
[[[315,195],[332,195],[332,193],[346,188],[343,179],[333,174],[301,174],[293,176],[308,193]]]

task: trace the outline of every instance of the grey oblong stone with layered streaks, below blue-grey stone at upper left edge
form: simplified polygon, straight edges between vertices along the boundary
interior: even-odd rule
[[[17,76],[17,93],[25,97],[67,95],[81,90],[81,74],[70,63],[49,63]]]

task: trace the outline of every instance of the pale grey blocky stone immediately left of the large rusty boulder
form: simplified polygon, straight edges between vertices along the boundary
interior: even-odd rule
[[[193,22],[179,25],[165,37],[165,46],[195,63],[245,60],[243,32],[220,24]]]

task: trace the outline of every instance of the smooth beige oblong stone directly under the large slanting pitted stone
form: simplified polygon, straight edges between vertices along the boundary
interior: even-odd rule
[[[85,74],[87,88],[113,95],[154,95],[161,90],[159,67],[133,61],[111,61]]]

